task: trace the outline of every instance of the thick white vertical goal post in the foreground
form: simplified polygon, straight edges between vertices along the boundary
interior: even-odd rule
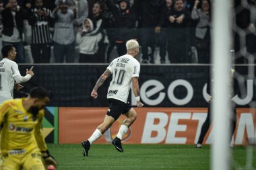
[[[230,105],[230,69],[232,48],[232,1],[212,1],[213,22],[212,22],[212,64],[214,83],[212,85],[213,97],[213,123],[214,123],[214,144],[212,145],[211,168],[214,170],[230,169],[230,133],[228,120]]]

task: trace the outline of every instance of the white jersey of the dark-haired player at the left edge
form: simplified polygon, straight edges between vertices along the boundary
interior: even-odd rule
[[[13,98],[14,77],[20,75],[16,62],[3,58],[0,61],[0,105]]]

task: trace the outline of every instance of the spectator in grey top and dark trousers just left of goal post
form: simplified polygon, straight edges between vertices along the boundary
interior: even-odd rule
[[[198,62],[210,63],[210,0],[202,0],[201,8],[198,9],[200,1],[196,0],[191,18],[198,20],[195,28],[195,47],[197,48]]]

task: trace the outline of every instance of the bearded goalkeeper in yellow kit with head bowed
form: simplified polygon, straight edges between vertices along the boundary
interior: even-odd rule
[[[44,170],[41,157],[46,165],[57,166],[42,136],[44,107],[49,101],[49,91],[34,87],[27,98],[3,102],[0,170]]]

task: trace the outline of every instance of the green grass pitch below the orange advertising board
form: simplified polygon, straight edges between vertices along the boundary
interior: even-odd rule
[[[112,144],[92,144],[89,157],[82,156],[81,144],[48,144],[59,163],[58,170],[86,169],[210,169],[210,146],[123,144],[123,153]],[[256,168],[256,148],[249,167]],[[247,147],[235,146],[230,156],[231,169],[248,169]],[[220,153],[221,154],[221,153]],[[236,168],[234,168],[236,167]]]

